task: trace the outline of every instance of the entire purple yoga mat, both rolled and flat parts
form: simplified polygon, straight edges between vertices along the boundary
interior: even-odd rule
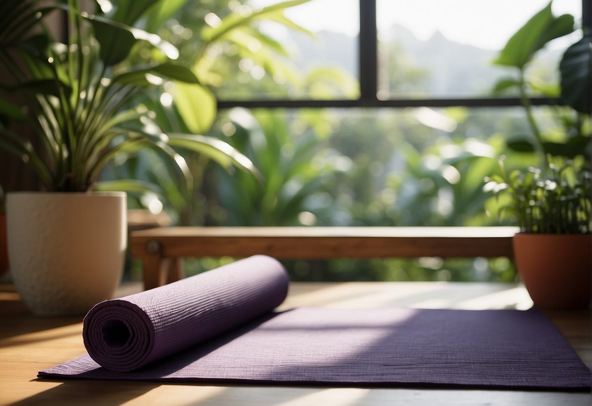
[[[40,377],[588,391],[590,370],[538,310],[297,308],[255,256],[85,317],[89,355]]]

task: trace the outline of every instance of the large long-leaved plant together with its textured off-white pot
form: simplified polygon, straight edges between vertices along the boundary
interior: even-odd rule
[[[188,187],[191,173],[177,147],[256,172],[223,141],[164,134],[155,113],[134,102],[168,80],[183,83],[183,98],[191,101],[183,114],[215,108],[191,70],[174,62],[175,47],[133,27],[142,19],[164,22],[172,6],[164,0],[97,3],[96,14],[81,12],[76,0],[0,4],[0,63],[9,76],[0,88],[22,98],[15,104],[0,97],[0,147],[22,157],[44,189],[7,196],[12,278],[35,314],[83,313],[110,298],[120,281],[126,195],[92,191],[118,153],[159,150]],[[67,15],[66,40],[46,27],[46,15],[56,11]],[[133,57],[140,41],[151,46],[150,63],[133,62],[140,60]],[[28,134],[17,133],[15,121],[27,124]]]

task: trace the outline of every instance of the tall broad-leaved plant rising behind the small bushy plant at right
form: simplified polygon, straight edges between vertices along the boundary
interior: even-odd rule
[[[563,54],[558,66],[560,83],[545,83],[529,75],[533,59],[549,42],[574,31],[574,17],[570,14],[556,17],[552,13],[551,1],[516,31],[494,60],[496,65],[513,68],[516,72],[514,76],[499,80],[494,93],[517,90],[530,128],[529,137],[513,137],[508,146],[519,152],[536,152],[547,165],[548,156],[573,158],[585,153],[590,142],[590,127],[586,120],[590,113],[590,27],[582,27],[580,40]],[[546,137],[541,129],[530,103],[530,96],[535,92],[548,97],[561,96],[567,105],[555,108],[556,117],[564,127],[562,141]]]

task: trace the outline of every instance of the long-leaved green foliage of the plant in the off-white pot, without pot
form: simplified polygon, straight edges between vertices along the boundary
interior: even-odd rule
[[[191,173],[178,147],[254,173],[250,160],[223,141],[163,133],[155,112],[137,103],[138,95],[164,80],[207,92],[190,69],[174,62],[175,46],[134,27],[162,24],[170,17],[171,2],[96,3],[96,14],[81,12],[77,0],[0,4],[0,63],[9,75],[0,83],[23,99],[15,104],[0,98],[0,147],[28,162],[47,191],[86,191],[118,153],[146,147],[169,156],[188,187]],[[50,32],[45,17],[64,11],[68,32],[62,39]],[[139,43],[150,45],[148,63],[130,63],[139,60],[134,58]],[[193,102],[187,115],[204,100],[185,99]],[[215,99],[203,108],[211,109],[211,103]],[[28,124],[30,139],[11,129],[17,120]]]

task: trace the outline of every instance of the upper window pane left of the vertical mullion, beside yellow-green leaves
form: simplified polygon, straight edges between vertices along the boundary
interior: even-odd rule
[[[278,3],[248,2],[255,10]],[[336,9],[339,18],[335,18]],[[238,33],[234,44],[220,43],[211,50],[217,51],[212,52],[213,59],[218,59],[213,63],[222,71],[230,70],[227,80],[215,88],[218,98],[358,98],[358,0],[314,0],[288,8],[284,15],[305,30],[282,24],[277,16],[263,17],[254,23],[259,33],[249,33],[255,40]],[[237,46],[246,40],[252,43],[251,49]]]

